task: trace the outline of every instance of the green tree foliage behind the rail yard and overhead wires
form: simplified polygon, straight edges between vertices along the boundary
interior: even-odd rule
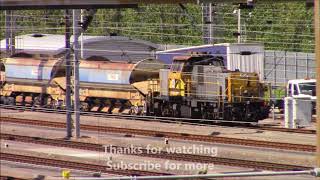
[[[203,44],[202,9],[186,5],[187,15],[179,5],[142,5],[138,9],[101,9],[89,26],[87,35],[118,34],[161,44]],[[219,42],[236,42],[236,6],[219,4],[214,29]],[[14,12],[18,35],[27,33],[64,33],[63,10],[33,10]],[[257,4],[253,10],[242,9],[242,39],[262,42],[266,49],[314,51],[313,11],[305,3]],[[1,37],[5,33],[4,11],[1,17]]]

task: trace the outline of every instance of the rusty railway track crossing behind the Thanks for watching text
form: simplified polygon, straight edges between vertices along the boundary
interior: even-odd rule
[[[1,139],[3,140],[14,140],[25,143],[34,143],[34,144],[43,144],[51,145],[57,147],[67,147],[75,148],[82,150],[98,151],[98,152],[110,152],[110,147],[106,148],[100,144],[93,143],[84,143],[84,142],[75,142],[75,141],[66,141],[59,139],[47,139],[39,137],[30,137],[30,136],[20,136],[14,134],[0,134]],[[113,146],[117,150],[124,150],[127,147]],[[124,151],[122,151],[124,152]],[[222,158],[222,157],[212,157],[204,155],[195,155],[195,154],[182,154],[182,153],[168,153],[166,151],[161,151],[159,153],[148,153],[147,149],[141,149],[139,153],[132,153],[134,156],[143,156],[159,159],[168,159],[168,160],[177,160],[177,161],[186,161],[194,163],[205,163],[205,164],[219,164],[227,166],[237,166],[245,168],[254,168],[259,170],[271,170],[271,171],[288,171],[288,170],[308,170],[312,167],[306,166],[297,166],[297,165],[286,165],[278,163],[269,163],[269,162],[258,162],[258,161],[249,161],[241,159],[231,159],[231,158]]]

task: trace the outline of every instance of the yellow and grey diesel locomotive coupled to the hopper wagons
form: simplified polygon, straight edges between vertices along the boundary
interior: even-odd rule
[[[258,74],[228,71],[222,57],[175,57],[160,72],[160,89],[149,95],[150,115],[254,122],[269,114]]]

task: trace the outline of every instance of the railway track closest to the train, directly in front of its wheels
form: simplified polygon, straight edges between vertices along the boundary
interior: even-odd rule
[[[15,107],[16,109],[16,107]],[[31,108],[19,107],[20,110],[31,110]],[[42,110],[35,109],[37,112],[44,113],[58,113],[65,114],[63,110]],[[94,112],[81,112],[82,116],[91,116],[91,117],[106,117],[106,118],[121,118],[121,119],[129,119],[129,120],[142,120],[142,121],[162,121],[166,123],[176,123],[177,118],[172,117],[150,117],[150,116],[135,116],[135,115],[124,115],[124,114],[106,114],[106,113],[94,113]],[[181,121],[182,119],[182,121]],[[194,125],[203,125],[206,126],[208,124],[199,124],[199,123],[190,123],[188,121],[183,122],[183,118],[181,118],[179,122],[185,124],[194,124]],[[192,119],[192,121],[196,121]],[[203,119],[202,119],[203,121]],[[243,122],[224,122],[221,120],[208,120],[216,126],[227,126],[227,127],[236,127],[236,128],[247,128],[247,129],[255,129],[255,130],[264,130],[264,131],[276,131],[276,132],[288,132],[288,133],[299,133],[299,134],[316,134],[316,130],[312,129],[289,129],[289,128],[280,128],[273,127],[270,125],[261,125],[261,124],[251,124],[251,123],[243,123]]]

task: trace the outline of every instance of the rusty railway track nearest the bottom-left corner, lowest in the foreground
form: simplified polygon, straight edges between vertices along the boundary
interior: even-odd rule
[[[60,168],[66,168],[66,169],[77,169],[77,170],[90,171],[90,172],[118,174],[118,175],[124,175],[124,176],[171,175],[168,173],[158,173],[158,172],[150,172],[150,171],[142,171],[142,170],[118,169],[118,168],[112,169],[109,166],[105,166],[105,165],[80,163],[80,162],[43,158],[43,157],[29,156],[29,155],[28,156],[18,155],[18,154],[12,154],[12,153],[4,153],[4,152],[1,152],[0,156],[1,156],[1,160],[11,161],[11,162],[45,165],[45,166],[60,167]]]

